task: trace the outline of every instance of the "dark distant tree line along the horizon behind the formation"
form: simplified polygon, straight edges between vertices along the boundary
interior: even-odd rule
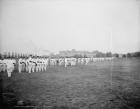
[[[56,55],[43,55],[43,56],[37,56],[35,54],[23,54],[23,53],[10,53],[10,52],[6,52],[4,54],[0,53],[0,58],[27,58],[29,55],[32,55],[33,57],[44,57],[44,58],[48,58],[48,57],[74,57],[74,58],[87,58],[87,57],[140,57],[140,52],[132,52],[132,53],[126,53],[126,54],[119,54],[119,53],[111,53],[111,52],[99,52],[96,51],[95,55],[90,55],[88,56],[87,54],[81,55],[81,54],[74,54],[73,56],[61,56],[59,54]]]

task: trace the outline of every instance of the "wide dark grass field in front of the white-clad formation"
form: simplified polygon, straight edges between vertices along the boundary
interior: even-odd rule
[[[10,109],[140,109],[140,59],[1,74]]]

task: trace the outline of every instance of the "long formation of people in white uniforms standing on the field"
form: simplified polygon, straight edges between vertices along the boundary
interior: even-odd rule
[[[112,57],[105,58],[40,58],[28,57],[19,59],[0,59],[0,72],[7,72],[8,77],[11,73],[17,71],[21,72],[43,72],[49,66],[75,66],[87,65],[91,62],[112,60]]]

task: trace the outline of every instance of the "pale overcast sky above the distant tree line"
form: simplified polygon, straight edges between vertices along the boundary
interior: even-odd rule
[[[139,0],[0,0],[1,51],[140,50]]]

